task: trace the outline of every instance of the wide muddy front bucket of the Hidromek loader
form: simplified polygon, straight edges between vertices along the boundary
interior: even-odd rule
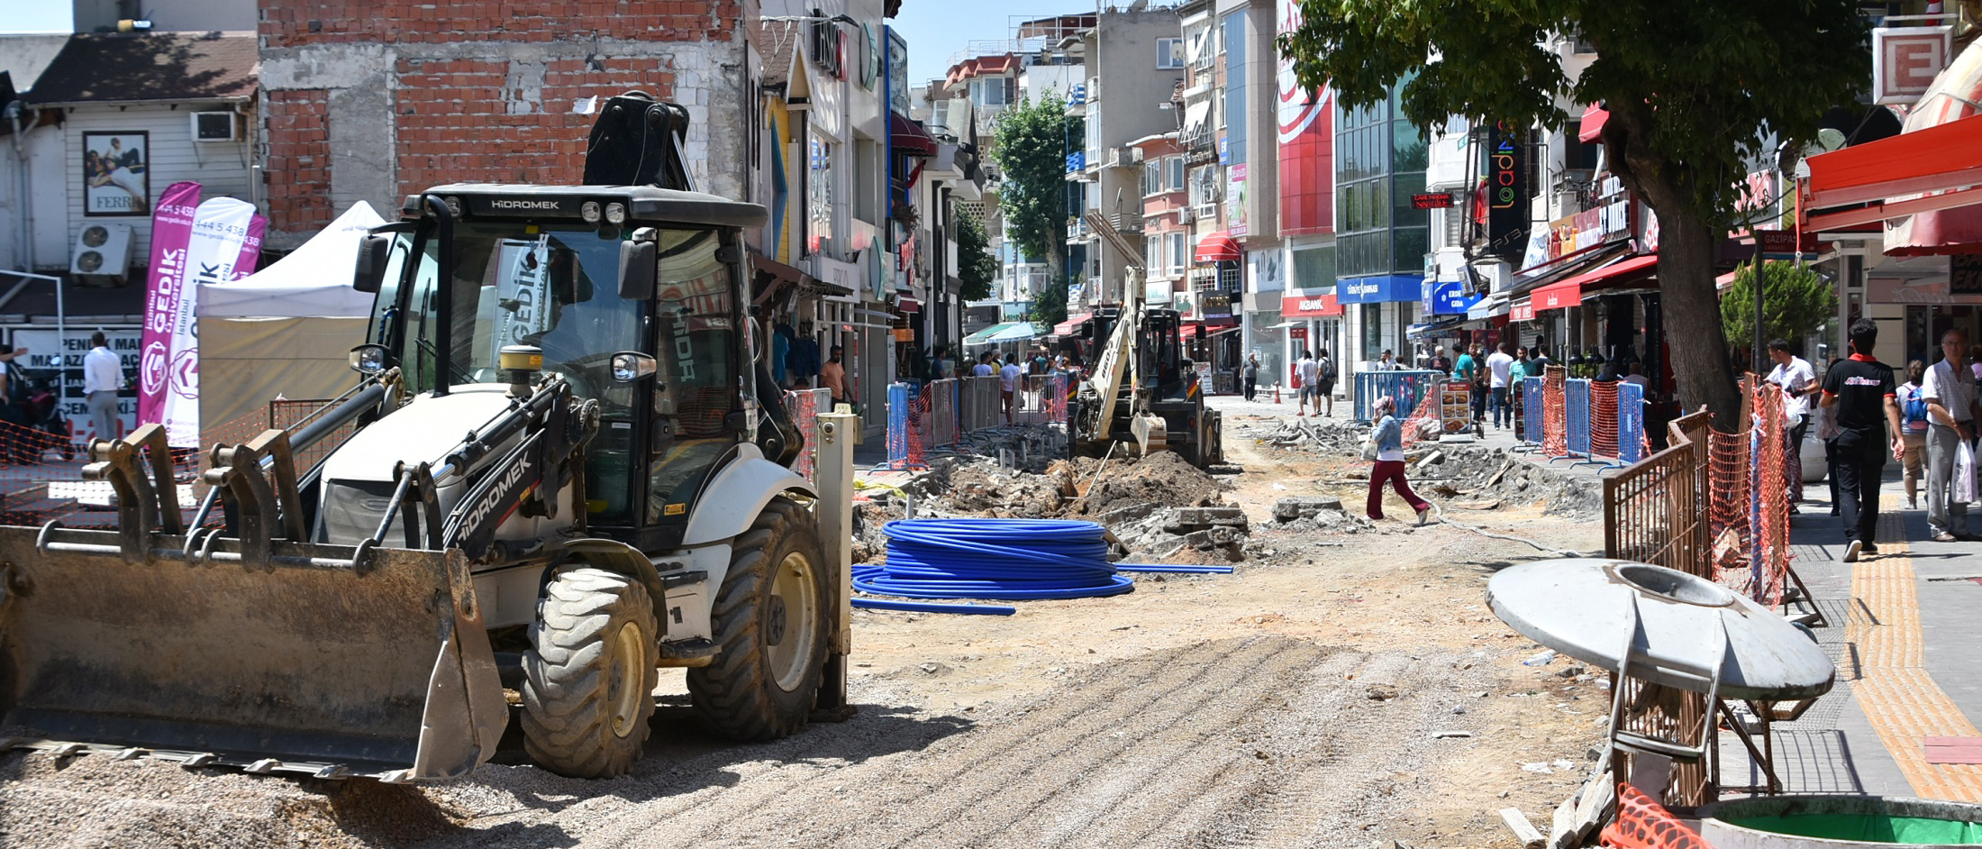
[[[507,722],[458,551],[0,528],[0,750],[388,782],[456,778]],[[127,540],[129,542],[129,540]]]

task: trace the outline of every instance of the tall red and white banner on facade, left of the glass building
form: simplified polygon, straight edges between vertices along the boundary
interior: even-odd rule
[[[1300,28],[1300,2],[1278,0],[1278,30]],[[1280,58],[1276,123],[1280,127],[1280,236],[1336,230],[1336,91],[1304,89],[1294,61]]]

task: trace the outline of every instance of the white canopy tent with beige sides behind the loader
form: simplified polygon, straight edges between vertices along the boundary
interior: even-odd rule
[[[357,202],[315,238],[232,284],[200,284],[200,444],[244,442],[268,403],[333,399],[357,381],[373,296],[351,288],[359,240],[385,224]]]

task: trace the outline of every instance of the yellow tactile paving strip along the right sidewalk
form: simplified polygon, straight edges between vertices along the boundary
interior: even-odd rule
[[[1909,551],[1905,542],[1891,542],[1879,557],[1851,569],[1845,639],[1857,647],[1861,676],[1853,694],[1915,795],[1982,803],[1982,764],[1927,762],[1927,738],[1972,738],[1982,732],[1927,674]]]

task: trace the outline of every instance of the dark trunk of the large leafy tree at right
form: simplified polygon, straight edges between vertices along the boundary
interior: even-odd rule
[[[1685,413],[1707,405],[1714,428],[1734,432],[1744,426],[1734,363],[1720,329],[1720,296],[1714,290],[1714,230],[1683,204],[1659,214],[1659,296]]]

